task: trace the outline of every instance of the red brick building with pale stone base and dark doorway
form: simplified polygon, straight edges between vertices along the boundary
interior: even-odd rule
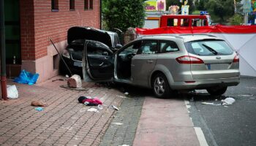
[[[39,82],[59,74],[59,55],[72,26],[100,28],[100,0],[4,0],[7,77],[26,69]],[[14,61],[15,60],[15,61]]]

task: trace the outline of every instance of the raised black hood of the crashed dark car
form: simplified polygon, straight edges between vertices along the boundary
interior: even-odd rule
[[[75,39],[88,39],[104,43],[111,47],[111,38],[106,31],[96,28],[75,26],[67,31],[67,43],[70,45]]]

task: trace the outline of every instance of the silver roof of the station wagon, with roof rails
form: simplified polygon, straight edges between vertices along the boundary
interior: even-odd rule
[[[203,40],[203,39],[223,40],[211,34],[157,34],[157,35],[145,35],[145,36],[138,37],[138,39],[166,39],[166,40],[170,38],[182,39],[183,42],[191,42],[191,41]]]

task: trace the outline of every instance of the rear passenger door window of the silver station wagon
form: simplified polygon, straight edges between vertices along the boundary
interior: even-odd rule
[[[143,43],[137,52],[137,54],[155,54],[155,53],[157,53],[156,40],[143,40]]]

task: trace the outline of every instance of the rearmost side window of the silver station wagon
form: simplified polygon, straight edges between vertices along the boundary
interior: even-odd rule
[[[178,51],[178,45],[173,41],[160,41],[160,53],[170,53]]]

